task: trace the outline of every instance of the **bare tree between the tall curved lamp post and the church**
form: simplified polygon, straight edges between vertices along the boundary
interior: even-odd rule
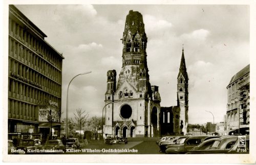
[[[75,120],[76,122],[74,123],[80,131],[80,138],[81,137],[81,129],[82,127],[84,127],[86,125],[87,119],[88,119],[88,112],[86,112],[85,110],[82,111],[81,108],[76,109],[76,113],[74,113],[75,115]]]

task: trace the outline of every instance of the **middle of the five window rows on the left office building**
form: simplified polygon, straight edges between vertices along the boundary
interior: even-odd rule
[[[10,76],[47,90],[60,97],[61,85],[16,60],[9,59]]]

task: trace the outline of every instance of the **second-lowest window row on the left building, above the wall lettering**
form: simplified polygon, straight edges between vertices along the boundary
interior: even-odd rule
[[[48,104],[49,100],[58,102],[57,97],[50,93],[13,79],[9,79],[9,92],[9,97],[34,104]]]

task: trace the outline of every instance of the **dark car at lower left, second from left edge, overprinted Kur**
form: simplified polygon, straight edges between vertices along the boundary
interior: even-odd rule
[[[39,139],[22,139],[16,150],[22,151],[19,154],[34,154],[36,149],[42,149],[41,140]]]

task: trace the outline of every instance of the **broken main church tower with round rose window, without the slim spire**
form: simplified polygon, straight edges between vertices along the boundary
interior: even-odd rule
[[[141,13],[129,11],[121,40],[122,68],[117,84],[116,71],[107,73],[103,132],[119,137],[159,136],[161,98],[158,86],[150,84]]]

